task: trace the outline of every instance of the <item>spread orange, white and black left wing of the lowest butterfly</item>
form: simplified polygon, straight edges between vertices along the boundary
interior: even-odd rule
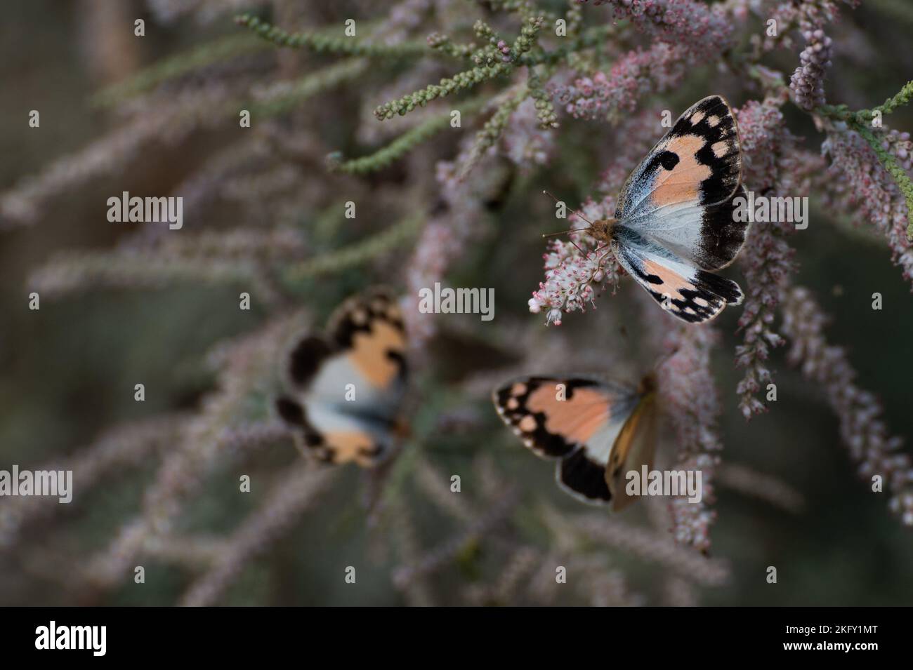
[[[635,407],[632,389],[580,377],[528,376],[499,387],[492,399],[527,447],[542,458],[561,459],[555,469],[561,489],[587,502],[612,499],[605,467]]]

